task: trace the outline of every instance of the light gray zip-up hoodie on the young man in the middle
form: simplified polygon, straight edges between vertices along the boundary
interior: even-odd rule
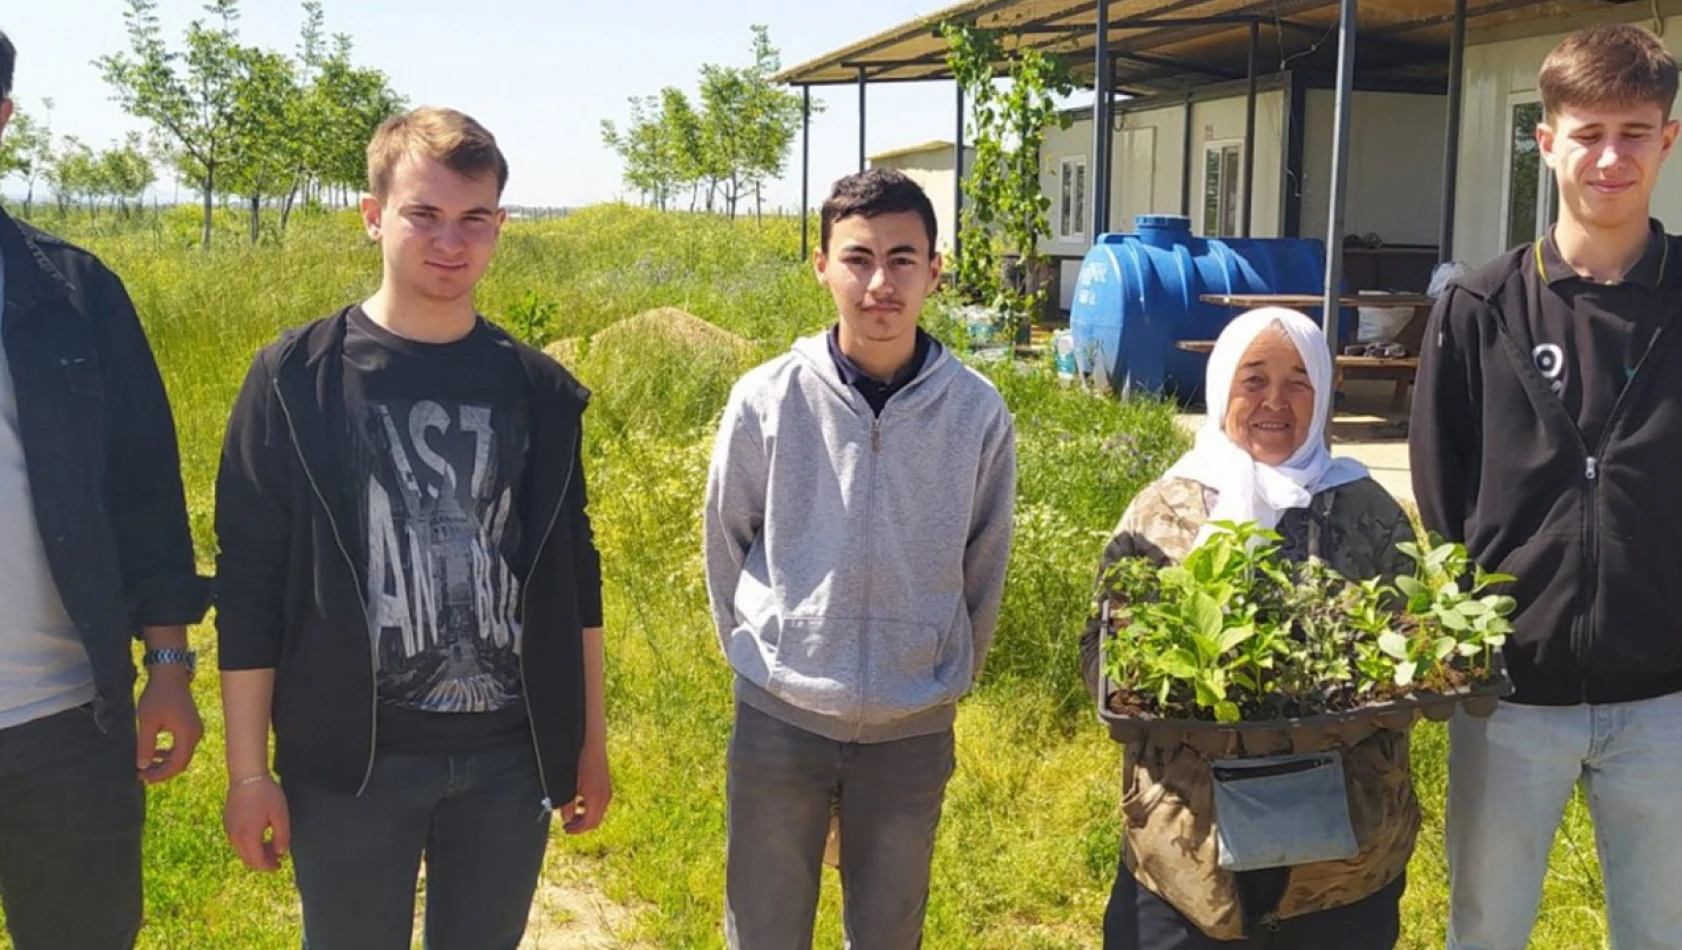
[[[836,742],[952,725],[997,625],[1014,496],[1011,414],[944,348],[880,417],[821,333],[748,372],[703,515],[737,696]]]

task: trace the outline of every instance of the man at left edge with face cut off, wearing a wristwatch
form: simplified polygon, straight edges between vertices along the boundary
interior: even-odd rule
[[[0,34],[0,136],[15,59]],[[187,627],[210,585],[116,274],[0,210],[0,900],[19,950],[126,950],[145,784],[187,768],[204,731]]]

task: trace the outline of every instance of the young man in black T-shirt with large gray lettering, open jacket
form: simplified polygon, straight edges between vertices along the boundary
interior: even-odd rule
[[[550,812],[612,794],[589,393],[473,304],[506,178],[461,113],[382,124],[380,289],[257,353],[229,420],[225,826],[291,851],[311,950],[407,950],[422,856],[427,947],[513,950]]]

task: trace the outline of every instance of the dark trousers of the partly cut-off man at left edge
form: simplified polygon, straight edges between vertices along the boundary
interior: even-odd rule
[[[131,705],[0,730],[0,901],[17,950],[130,950],[146,790]]]

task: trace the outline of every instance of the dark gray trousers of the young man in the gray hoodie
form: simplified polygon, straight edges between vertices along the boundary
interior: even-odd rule
[[[883,743],[812,735],[737,705],[730,733],[725,940],[732,950],[812,945],[829,809],[841,809],[846,945],[922,945],[928,863],[952,730]]]

